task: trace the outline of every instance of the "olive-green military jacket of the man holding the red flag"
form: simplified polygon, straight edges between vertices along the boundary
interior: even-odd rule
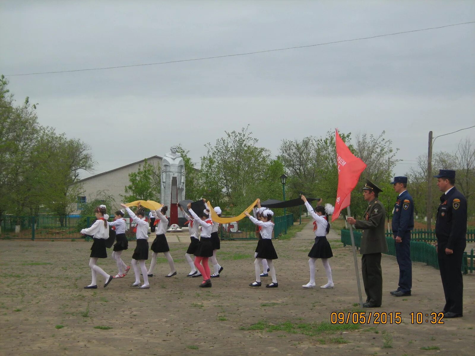
[[[360,253],[384,253],[388,251],[384,227],[384,206],[377,200],[368,204],[364,212],[364,220],[356,220],[355,227],[363,229]]]

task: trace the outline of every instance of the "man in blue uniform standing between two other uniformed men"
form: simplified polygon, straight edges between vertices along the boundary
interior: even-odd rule
[[[414,201],[409,195],[408,178],[394,177],[391,182],[398,193],[392,216],[392,233],[395,241],[396,260],[399,264],[399,287],[390,294],[396,297],[411,295],[412,262],[411,262],[411,230],[414,228]]]

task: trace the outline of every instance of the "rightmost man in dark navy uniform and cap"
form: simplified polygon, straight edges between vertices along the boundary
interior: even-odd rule
[[[437,257],[446,305],[444,318],[463,315],[462,257],[466,247],[467,201],[455,186],[455,170],[440,169],[437,187],[444,192],[437,208]]]

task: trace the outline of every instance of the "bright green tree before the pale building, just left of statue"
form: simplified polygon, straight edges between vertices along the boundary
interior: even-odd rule
[[[160,200],[160,167],[155,167],[147,159],[139,165],[137,172],[129,173],[128,186],[125,186],[124,201],[132,202],[135,200]]]

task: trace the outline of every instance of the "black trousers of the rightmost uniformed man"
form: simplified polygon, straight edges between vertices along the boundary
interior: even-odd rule
[[[447,254],[446,238],[437,236],[437,258],[439,261],[440,278],[446,298],[444,311],[456,314],[463,313],[464,280],[462,278],[462,257],[466,241],[460,241],[454,246],[454,253]]]

